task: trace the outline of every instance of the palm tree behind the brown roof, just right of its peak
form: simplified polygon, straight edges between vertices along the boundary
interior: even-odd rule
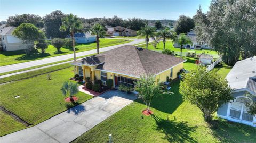
[[[146,25],[145,27],[141,27],[140,35],[145,36],[146,40],[146,48],[148,49],[148,42],[149,42],[149,37],[155,39],[155,32],[156,29],[154,27],[150,27]]]

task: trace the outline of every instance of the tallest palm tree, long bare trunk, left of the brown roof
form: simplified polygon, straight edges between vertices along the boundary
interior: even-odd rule
[[[74,51],[74,61],[76,61],[76,49],[75,49],[75,39],[74,34],[78,30],[82,29],[82,22],[73,14],[69,14],[61,19],[62,25],[60,26],[60,31],[65,32],[69,31],[72,38],[72,46]]]

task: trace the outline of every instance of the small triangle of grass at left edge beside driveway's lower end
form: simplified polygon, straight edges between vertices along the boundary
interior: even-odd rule
[[[0,137],[4,134],[15,132],[26,128],[26,126],[0,110]]]

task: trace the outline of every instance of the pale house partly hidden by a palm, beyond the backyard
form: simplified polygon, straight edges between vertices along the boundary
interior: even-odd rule
[[[191,44],[183,45],[183,48],[186,48],[186,49],[211,49],[211,47],[209,47],[205,42],[197,40],[197,36],[196,36],[196,33],[194,30],[187,32],[187,37],[190,38]],[[180,45],[177,42],[175,42],[174,47],[180,48]]]

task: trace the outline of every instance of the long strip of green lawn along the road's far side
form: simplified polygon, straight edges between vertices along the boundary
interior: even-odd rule
[[[130,41],[123,39],[100,39],[100,48],[113,46],[117,44],[127,43]],[[88,51],[96,48],[96,43],[87,43],[87,44],[77,44],[76,52]],[[33,60],[39,60],[47,57],[60,56],[65,54],[73,53],[73,49],[71,48],[61,48],[61,53],[55,53],[57,51],[52,45],[46,49],[45,53],[42,54],[40,52],[27,56],[24,51],[1,51],[0,53],[0,66],[9,65],[9,64],[17,64],[22,62],[28,62]]]

